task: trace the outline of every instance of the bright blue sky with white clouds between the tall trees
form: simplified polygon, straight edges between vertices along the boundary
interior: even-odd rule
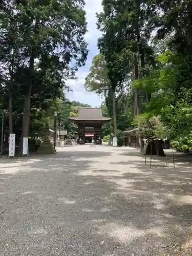
[[[80,68],[76,73],[78,79],[68,80],[67,84],[73,90],[73,92],[67,92],[66,95],[70,100],[76,100],[81,103],[87,103],[91,106],[99,106],[102,102],[100,96],[92,92],[86,92],[84,90],[84,79],[89,73],[89,69],[92,65],[92,59],[98,54],[97,39],[100,36],[100,32],[96,27],[96,12],[102,10],[101,0],[85,0],[88,22],[88,33],[86,34],[86,40],[88,42],[89,54],[86,66]]]

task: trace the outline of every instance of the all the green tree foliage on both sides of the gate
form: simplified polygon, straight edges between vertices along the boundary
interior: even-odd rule
[[[63,89],[87,57],[84,1],[3,0],[0,6],[0,108],[13,114],[18,134],[27,133],[29,115],[30,133],[40,134],[46,124],[53,126],[58,111],[59,125],[75,137],[77,127],[68,116],[88,105],[67,101]],[[191,1],[103,0],[102,7],[100,53],[86,90],[104,96],[102,113],[117,120],[119,141],[120,131],[133,123],[145,138],[170,137],[176,148],[190,150]],[[111,132],[112,122],[103,126],[104,136]]]

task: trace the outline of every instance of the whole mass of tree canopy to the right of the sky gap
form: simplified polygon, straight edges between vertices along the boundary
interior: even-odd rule
[[[103,0],[102,7],[86,89],[105,96],[109,114],[115,108],[121,116],[117,126],[123,113],[122,131],[138,125],[144,137],[191,150],[191,1]]]

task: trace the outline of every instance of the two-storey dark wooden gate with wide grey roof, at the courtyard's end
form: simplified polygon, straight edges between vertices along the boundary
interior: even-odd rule
[[[102,143],[102,125],[109,122],[111,118],[103,117],[99,108],[80,108],[78,115],[69,117],[69,119],[77,124],[77,141],[79,144]]]

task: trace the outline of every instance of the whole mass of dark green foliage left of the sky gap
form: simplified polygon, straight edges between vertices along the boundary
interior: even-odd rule
[[[56,108],[56,98],[62,98],[66,79],[85,63],[86,12],[82,0],[3,0],[2,6],[0,72],[4,102],[9,101],[9,126],[19,121],[23,138],[33,121],[47,122],[46,116],[51,113],[46,113]],[[15,95],[19,110],[15,110]],[[3,107],[7,109],[6,104]],[[15,120],[16,115],[19,120]]]

